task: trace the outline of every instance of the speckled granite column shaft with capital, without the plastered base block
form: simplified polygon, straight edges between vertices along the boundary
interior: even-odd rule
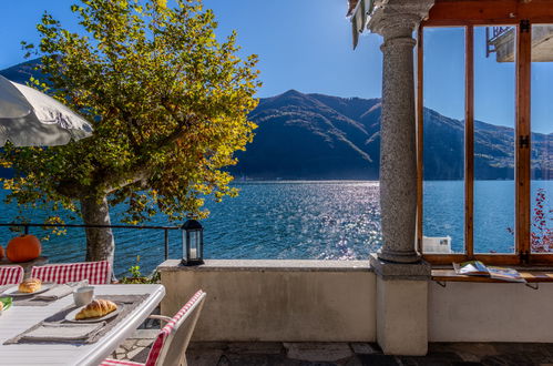
[[[412,33],[433,1],[388,1],[369,28],[383,37],[380,124],[380,260],[416,263],[417,148]]]

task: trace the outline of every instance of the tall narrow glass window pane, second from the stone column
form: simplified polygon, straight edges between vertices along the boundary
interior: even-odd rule
[[[474,28],[474,253],[514,252],[515,45],[514,27]]]

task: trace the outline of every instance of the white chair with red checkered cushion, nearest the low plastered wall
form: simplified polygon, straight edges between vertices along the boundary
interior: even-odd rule
[[[100,366],[181,366],[186,364],[185,352],[196,326],[206,294],[201,289],[170,318],[151,315],[150,317],[167,322],[160,331],[147,355],[146,364],[131,360],[106,358]]]

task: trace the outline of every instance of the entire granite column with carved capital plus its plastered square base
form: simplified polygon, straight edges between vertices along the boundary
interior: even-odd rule
[[[369,29],[383,37],[380,125],[382,248],[370,257],[377,274],[377,340],[386,354],[428,350],[430,266],[414,250],[417,153],[413,31],[433,0],[385,0]]]

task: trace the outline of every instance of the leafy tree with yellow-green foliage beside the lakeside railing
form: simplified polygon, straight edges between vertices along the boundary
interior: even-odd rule
[[[110,205],[124,203],[124,221],[156,212],[168,220],[199,217],[205,196],[237,192],[223,169],[236,163],[256,125],[247,120],[260,85],[257,58],[240,60],[236,33],[215,38],[217,23],[201,0],[81,0],[71,10],[82,31],[65,30],[49,13],[37,26],[47,80],[32,83],[80,111],[92,138],[65,146],[16,149],[1,159],[8,203],[81,214],[110,224]],[[86,228],[86,260],[113,261],[111,230]]]

